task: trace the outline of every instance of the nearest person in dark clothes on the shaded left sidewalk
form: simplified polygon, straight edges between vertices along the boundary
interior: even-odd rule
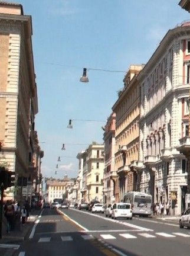
[[[6,217],[6,232],[14,230],[15,209],[11,201],[7,201],[4,207],[4,215]]]

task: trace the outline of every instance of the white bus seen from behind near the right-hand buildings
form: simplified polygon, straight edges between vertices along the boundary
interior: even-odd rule
[[[149,216],[152,213],[152,196],[150,194],[130,191],[124,195],[123,203],[132,204],[133,215]]]

